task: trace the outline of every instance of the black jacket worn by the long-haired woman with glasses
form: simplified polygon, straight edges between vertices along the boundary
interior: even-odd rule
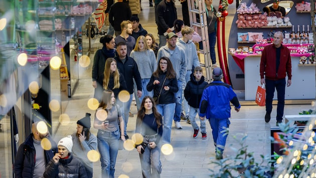
[[[166,78],[167,72],[159,73],[159,77],[156,78],[151,75],[150,80],[147,84],[147,90],[152,91],[153,89],[153,97],[158,97],[160,90],[162,90],[160,97],[159,97],[159,104],[170,104],[176,102],[175,93],[178,92],[178,81],[176,78],[169,79],[167,78],[165,83],[164,80]],[[159,84],[153,84],[154,80],[159,80]],[[164,85],[163,85],[164,84]],[[164,88],[161,89],[163,86],[169,86],[169,90],[165,90]]]

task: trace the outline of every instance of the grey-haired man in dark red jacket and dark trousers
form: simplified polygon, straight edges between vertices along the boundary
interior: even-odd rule
[[[269,122],[272,111],[274,88],[277,92],[276,125],[282,122],[285,97],[285,77],[287,86],[291,85],[292,65],[288,48],[282,45],[283,33],[277,31],[273,36],[273,44],[264,47],[260,61],[261,84],[265,83],[265,122]]]

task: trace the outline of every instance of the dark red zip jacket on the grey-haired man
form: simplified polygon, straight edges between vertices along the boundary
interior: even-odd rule
[[[260,61],[260,77],[270,80],[278,80],[286,77],[292,78],[291,56],[288,48],[281,45],[280,64],[276,73],[276,48],[274,44],[264,47]]]

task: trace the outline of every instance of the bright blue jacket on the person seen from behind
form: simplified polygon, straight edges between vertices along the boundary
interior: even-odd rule
[[[223,81],[213,81],[203,91],[200,103],[200,116],[210,118],[229,118],[230,103],[236,108],[240,104],[231,85]]]

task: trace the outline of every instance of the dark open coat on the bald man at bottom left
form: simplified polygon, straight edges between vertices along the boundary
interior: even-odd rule
[[[54,157],[55,153],[57,152],[56,142],[53,139],[51,139],[50,136],[48,136],[47,138],[50,140],[52,144],[52,149],[44,150],[46,165]],[[27,137],[25,142],[19,146],[15,163],[14,163],[14,171],[15,171],[16,177],[33,177],[35,159],[36,159],[36,151],[33,144],[33,133],[31,133]]]

